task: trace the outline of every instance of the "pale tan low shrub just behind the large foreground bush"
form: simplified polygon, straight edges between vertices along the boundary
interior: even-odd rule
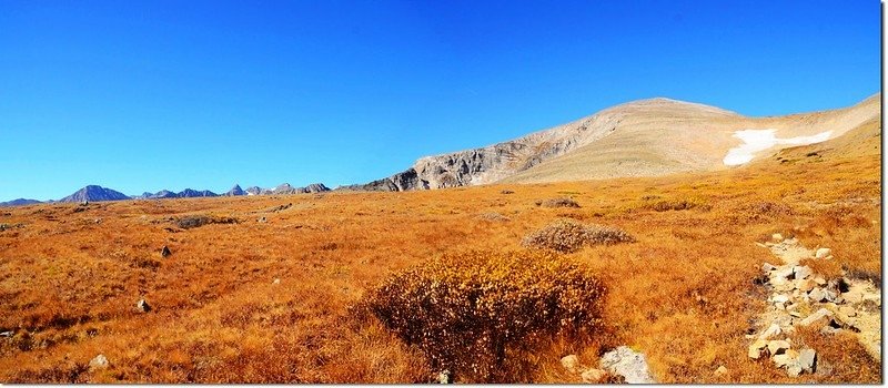
[[[558,219],[522,241],[532,248],[572,253],[585,245],[632,243],[635,237],[625,231],[598,224],[582,224],[573,219]]]

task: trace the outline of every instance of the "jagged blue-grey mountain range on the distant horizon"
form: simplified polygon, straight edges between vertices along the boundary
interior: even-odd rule
[[[248,190],[242,190],[240,185],[234,185],[230,191],[221,196],[241,196],[241,195],[283,195],[283,194],[303,194],[303,193],[323,193],[329,192],[330,188],[323,183],[312,183],[305,187],[293,187],[289,183],[281,184],[274,188],[262,188],[253,186]],[[209,190],[196,191],[185,188],[179,193],[169,190],[161,190],[154,194],[144,192],[141,195],[129,196],[121,192],[102,187],[99,185],[88,185],[78,190],[73,194],[65,196],[59,201],[47,201],[47,203],[79,203],[79,202],[104,202],[104,201],[123,201],[123,200],[161,200],[161,198],[198,198],[198,197],[214,197],[220,196]],[[43,203],[37,200],[18,198],[9,202],[0,202],[0,207],[3,206],[23,206]]]

